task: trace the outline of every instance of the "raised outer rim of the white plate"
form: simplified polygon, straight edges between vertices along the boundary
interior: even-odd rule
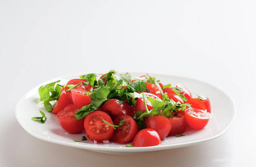
[[[122,73],[122,72],[120,72],[120,73]],[[143,73],[143,72],[130,72],[130,73],[140,74],[140,73]],[[169,77],[178,77],[178,78],[190,79],[190,80],[206,83],[206,84],[214,87],[215,89],[218,89],[220,92],[222,92],[224,95],[226,95],[227,98],[232,102],[233,109],[234,109],[233,110],[233,118],[232,118],[232,120],[230,121],[230,123],[227,125],[227,127],[224,130],[222,130],[220,133],[218,133],[217,135],[214,135],[212,137],[203,138],[203,139],[199,139],[199,140],[196,140],[196,141],[189,141],[189,142],[186,142],[186,143],[177,143],[177,144],[168,144],[168,145],[157,145],[157,146],[151,146],[151,147],[102,147],[102,146],[99,146],[99,145],[93,146],[93,145],[79,144],[78,142],[71,143],[71,142],[67,142],[67,141],[60,141],[58,139],[47,138],[47,137],[44,137],[42,135],[38,135],[37,133],[32,132],[31,130],[29,130],[26,126],[24,126],[21,123],[20,118],[18,118],[18,116],[17,116],[17,113],[19,111],[18,108],[21,105],[20,103],[21,103],[22,99],[25,98],[26,95],[29,94],[29,92],[31,92],[32,90],[40,87],[44,83],[51,82],[52,80],[56,80],[58,78],[68,78],[68,77],[71,77],[71,76],[74,76],[74,75],[78,75],[79,76],[79,75],[81,75],[81,73],[62,75],[62,76],[59,76],[59,77],[55,77],[55,78],[52,78],[52,79],[50,79],[48,81],[40,83],[37,86],[34,86],[32,89],[29,89],[19,99],[19,101],[17,102],[16,108],[15,108],[15,117],[16,117],[18,123],[20,124],[20,126],[26,132],[28,132],[30,135],[34,136],[35,138],[41,139],[43,141],[48,141],[48,142],[51,142],[51,143],[55,143],[55,144],[64,145],[64,146],[76,147],[76,148],[92,150],[92,151],[99,151],[99,152],[100,151],[102,151],[102,152],[109,152],[109,153],[114,153],[114,152],[116,152],[116,153],[140,153],[140,152],[153,152],[153,151],[169,150],[169,149],[174,149],[174,148],[179,148],[179,147],[187,147],[187,146],[195,145],[195,144],[198,144],[198,143],[201,143],[201,142],[210,141],[210,140],[213,140],[215,138],[218,138],[219,136],[223,135],[230,128],[230,126],[233,124],[233,121],[234,121],[234,119],[236,117],[236,105],[235,105],[233,99],[230,97],[230,95],[228,95],[225,91],[220,89],[218,86],[215,86],[212,83],[208,83],[206,81],[202,81],[200,79],[196,79],[196,78],[192,78],[192,77],[185,77],[185,76],[182,76],[182,75],[172,75],[172,74],[153,73],[153,72],[150,72],[149,74],[150,75],[166,75],[166,76],[169,76]]]

